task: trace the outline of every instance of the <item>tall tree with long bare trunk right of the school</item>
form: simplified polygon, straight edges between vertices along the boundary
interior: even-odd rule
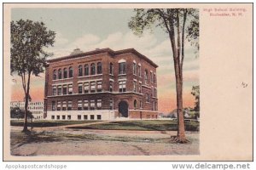
[[[177,93],[177,142],[184,143],[185,127],[183,120],[183,59],[185,39],[199,49],[199,12],[195,8],[136,8],[128,26],[138,36],[143,31],[160,27],[171,42],[172,59],[176,78]]]

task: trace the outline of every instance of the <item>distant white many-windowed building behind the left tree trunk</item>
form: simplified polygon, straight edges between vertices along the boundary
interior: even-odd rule
[[[24,101],[11,101],[10,108],[14,109],[19,107],[20,110],[25,110]],[[44,102],[43,101],[29,101],[28,102],[28,111],[32,112],[34,119],[44,119]]]

